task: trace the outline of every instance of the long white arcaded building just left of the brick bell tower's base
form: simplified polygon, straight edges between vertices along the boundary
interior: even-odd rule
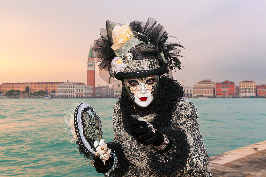
[[[80,98],[92,96],[93,87],[88,87],[84,83],[64,82],[57,84],[57,98]]]

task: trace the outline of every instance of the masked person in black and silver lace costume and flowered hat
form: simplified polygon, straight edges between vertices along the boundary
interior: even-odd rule
[[[168,33],[149,18],[118,24],[107,21],[94,41],[93,58],[107,82],[122,81],[122,94],[113,107],[116,153],[94,162],[109,176],[211,176],[208,154],[197,123],[198,111],[183,98],[183,88],[172,79],[181,69],[182,47],[167,42]],[[163,75],[165,74],[165,75]]]

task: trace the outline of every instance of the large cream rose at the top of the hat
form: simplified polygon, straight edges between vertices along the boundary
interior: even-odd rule
[[[129,26],[115,26],[112,32],[113,45],[112,49],[117,50],[119,47],[124,44],[130,37],[134,36],[133,32],[130,30]]]

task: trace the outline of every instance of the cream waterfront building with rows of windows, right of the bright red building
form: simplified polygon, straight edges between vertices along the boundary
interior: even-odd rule
[[[240,96],[256,96],[256,85],[253,81],[239,82]]]

